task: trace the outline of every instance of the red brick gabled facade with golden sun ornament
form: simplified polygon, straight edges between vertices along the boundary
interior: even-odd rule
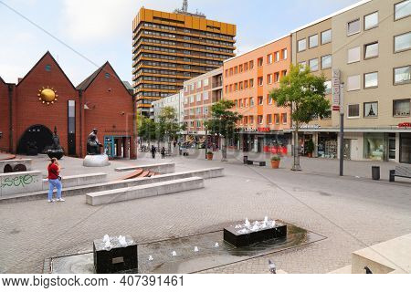
[[[99,71],[99,74],[96,74]],[[57,127],[60,144],[68,153],[68,100],[75,101],[75,154],[84,157],[86,142],[93,128],[99,129],[99,139],[104,135],[127,136],[135,141],[133,129],[132,93],[122,84],[109,63],[96,71],[87,89],[76,89],[56,60],[46,53],[17,85],[7,85],[0,80],[0,150],[16,153],[19,141],[27,129],[42,125],[48,130]],[[105,78],[105,74],[107,77]],[[87,79],[86,79],[87,80]],[[9,105],[11,87],[12,106]],[[43,103],[39,89],[56,90],[58,100]],[[10,111],[12,115],[12,149],[10,149]],[[136,158],[135,147],[130,156]]]

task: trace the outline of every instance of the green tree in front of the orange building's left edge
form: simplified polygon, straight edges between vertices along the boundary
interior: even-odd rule
[[[222,161],[227,162],[227,139],[233,138],[236,130],[236,123],[243,117],[231,109],[234,108],[234,101],[220,100],[211,107],[211,119],[205,121],[205,127],[212,135],[222,137]]]

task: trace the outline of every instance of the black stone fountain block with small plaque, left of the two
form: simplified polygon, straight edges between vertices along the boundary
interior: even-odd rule
[[[93,242],[94,269],[97,274],[113,274],[124,271],[137,273],[137,244],[126,236],[127,245],[121,245],[117,237],[111,237],[111,247],[105,247],[102,239]]]

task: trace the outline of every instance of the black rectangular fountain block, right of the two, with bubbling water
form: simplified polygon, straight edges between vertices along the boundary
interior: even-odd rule
[[[276,224],[273,227],[266,227],[258,231],[248,230],[247,233],[240,233],[234,226],[229,226],[224,229],[224,240],[236,247],[244,247],[255,245],[271,239],[279,239],[287,237],[287,225]]]

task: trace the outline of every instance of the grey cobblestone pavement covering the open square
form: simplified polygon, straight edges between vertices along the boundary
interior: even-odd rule
[[[205,272],[267,273],[270,258],[288,273],[326,273],[349,265],[355,250],[411,233],[411,183],[340,178],[321,160],[315,164],[322,174],[245,166],[233,159],[165,161],[176,162],[177,172],[224,166],[226,176],[205,181],[202,190],[102,207],[86,204],[84,196],[65,203],[1,203],[0,272],[41,273],[45,258],[90,251],[92,240],[106,234],[151,242],[269,215],[327,239]],[[138,163],[147,162],[153,161],[142,155]]]

